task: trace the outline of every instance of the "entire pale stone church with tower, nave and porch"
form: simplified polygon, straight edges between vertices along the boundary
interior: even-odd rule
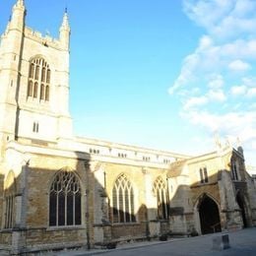
[[[42,36],[16,1],[0,42],[0,254],[256,224],[241,147],[190,157],[74,136],[69,41],[67,13]]]

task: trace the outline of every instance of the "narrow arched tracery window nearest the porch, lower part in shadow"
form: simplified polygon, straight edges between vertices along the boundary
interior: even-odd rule
[[[162,178],[158,178],[154,183],[154,192],[157,196],[158,219],[168,219],[167,190]]]

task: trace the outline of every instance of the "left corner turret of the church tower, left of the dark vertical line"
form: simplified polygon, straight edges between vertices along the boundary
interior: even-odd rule
[[[23,0],[13,7],[12,17],[0,44],[0,157],[5,145],[16,137],[18,93],[24,45],[26,9]]]

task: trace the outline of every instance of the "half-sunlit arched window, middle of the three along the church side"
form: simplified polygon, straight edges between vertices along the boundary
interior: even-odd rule
[[[120,175],[112,190],[113,199],[113,222],[134,223],[134,191],[131,182],[127,177]]]

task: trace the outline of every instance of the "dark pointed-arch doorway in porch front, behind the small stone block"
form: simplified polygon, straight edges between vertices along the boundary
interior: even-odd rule
[[[198,206],[202,234],[221,232],[221,219],[217,203],[205,195]]]

